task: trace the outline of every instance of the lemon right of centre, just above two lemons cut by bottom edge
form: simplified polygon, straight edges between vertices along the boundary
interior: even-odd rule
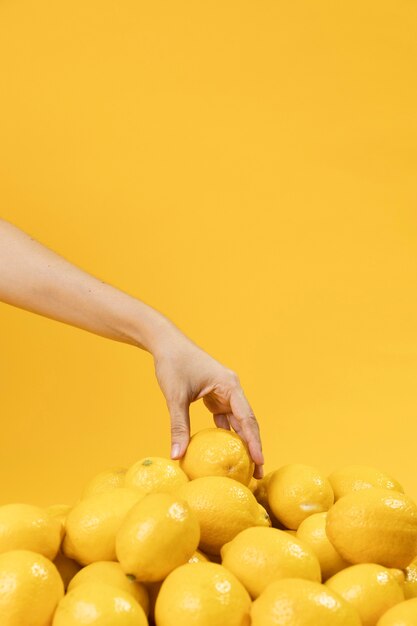
[[[221,549],[222,565],[257,598],[280,578],[321,581],[319,561],[308,544],[277,528],[242,530]]]

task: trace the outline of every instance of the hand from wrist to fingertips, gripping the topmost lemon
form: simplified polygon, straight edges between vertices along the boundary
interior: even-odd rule
[[[171,417],[173,459],[181,458],[190,440],[191,402],[203,398],[219,428],[233,428],[249,447],[255,463],[255,478],[262,478],[259,426],[246,399],[239,378],[190,339],[174,332],[154,353],[155,374]]]

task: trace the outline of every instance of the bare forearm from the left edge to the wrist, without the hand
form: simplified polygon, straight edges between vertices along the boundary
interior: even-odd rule
[[[178,331],[161,313],[0,220],[0,300],[155,353]]]

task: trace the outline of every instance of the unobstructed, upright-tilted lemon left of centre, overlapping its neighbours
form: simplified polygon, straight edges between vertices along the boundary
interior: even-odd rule
[[[147,494],[132,508],[116,535],[117,559],[137,580],[162,580],[197,549],[200,528],[185,500]]]

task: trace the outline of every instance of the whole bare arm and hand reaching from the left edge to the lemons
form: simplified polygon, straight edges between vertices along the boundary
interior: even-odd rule
[[[237,374],[159,311],[95,278],[0,219],[0,300],[149,352],[171,418],[171,458],[190,440],[190,404],[200,398],[219,428],[244,439],[261,478],[259,425]]]

